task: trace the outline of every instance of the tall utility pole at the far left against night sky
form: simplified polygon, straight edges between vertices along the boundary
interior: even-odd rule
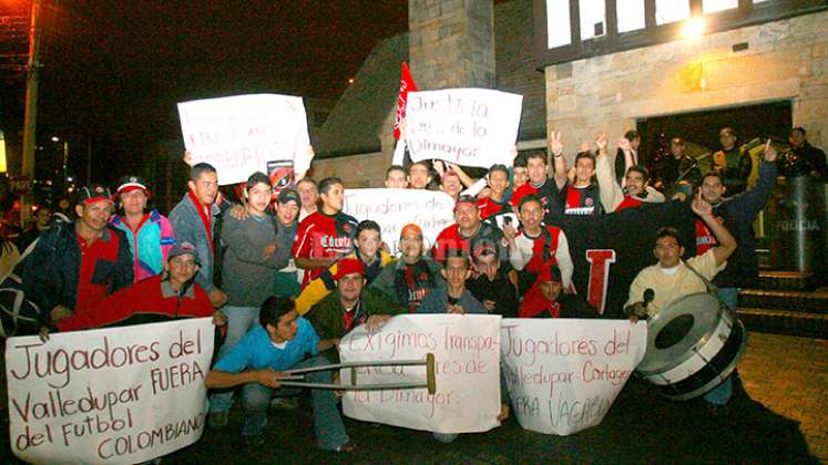
[[[23,123],[22,175],[29,183],[34,178],[34,145],[38,127],[38,73],[40,71],[40,43],[42,41],[41,0],[32,0],[31,25],[29,28],[29,63],[25,75],[25,116]],[[24,227],[31,213],[29,192],[20,197],[20,226]]]

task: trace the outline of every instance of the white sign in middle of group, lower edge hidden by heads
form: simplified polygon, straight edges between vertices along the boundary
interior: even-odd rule
[[[382,240],[397,251],[400,230],[409,223],[422,229],[429,248],[441,230],[454,224],[454,200],[448,194],[426,189],[346,189],[343,211],[357,220],[372,219]]]

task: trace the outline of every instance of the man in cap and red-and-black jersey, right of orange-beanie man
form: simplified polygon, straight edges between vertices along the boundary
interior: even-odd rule
[[[505,257],[503,232],[491,223],[481,223],[478,211],[478,199],[472,196],[460,196],[454,204],[456,224],[447,227],[437,236],[431,256],[442,262],[449,249],[460,249],[468,257],[482,242],[498,248],[499,255]]]

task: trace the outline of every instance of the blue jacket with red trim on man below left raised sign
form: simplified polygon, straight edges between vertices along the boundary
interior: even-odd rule
[[[213,204],[211,205],[209,213],[212,216],[209,221],[211,230],[209,236],[207,236],[202,218],[198,216],[198,211],[195,209],[195,205],[193,205],[187,194],[170,211],[170,223],[173,225],[176,242],[182,244],[187,241],[195,246],[195,249],[198,251],[201,267],[198,268],[198,273],[195,276],[195,282],[207,293],[213,291],[214,254],[209,237],[213,237],[216,216],[218,216],[221,210]]]

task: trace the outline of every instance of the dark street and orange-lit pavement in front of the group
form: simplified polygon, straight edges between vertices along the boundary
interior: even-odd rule
[[[359,446],[347,456],[316,451],[309,415],[295,412],[273,412],[273,441],[246,448],[234,409],[228,430],[206,431],[164,463],[828,462],[828,341],[750,333],[739,373],[744,391],[724,416],[701,402],[660,399],[634,379],[600,426],[573,436],[531,433],[510,418],[498,430],[440,444],[428,433],[346,420]],[[3,442],[0,456],[8,451]]]

